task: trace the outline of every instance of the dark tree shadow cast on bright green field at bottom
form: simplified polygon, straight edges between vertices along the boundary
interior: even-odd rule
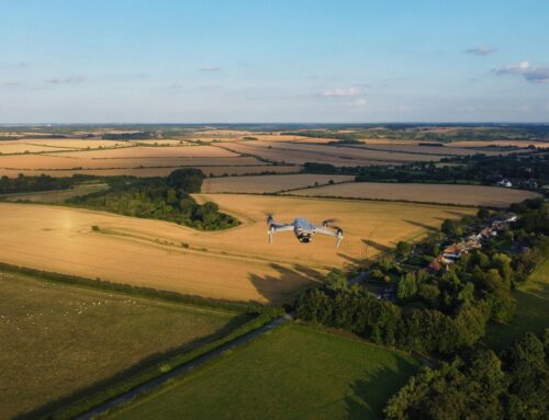
[[[350,395],[345,398],[347,419],[382,418],[389,398],[406,384],[418,366],[393,355],[396,368],[380,367],[349,385]]]

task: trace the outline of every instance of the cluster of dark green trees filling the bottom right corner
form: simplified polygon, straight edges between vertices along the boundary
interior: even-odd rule
[[[549,330],[534,333],[501,356],[479,349],[423,370],[384,409],[389,420],[547,419]]]

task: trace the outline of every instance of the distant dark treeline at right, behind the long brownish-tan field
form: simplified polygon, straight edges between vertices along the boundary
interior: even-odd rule
[[[329,163],[306,162],[307,173],[355,175],[359,182],[433,182],[493,184],[502,178],[516,181],[536,180],[549,183],[549,154],[537,151],[526,155],[457,157],[442,159],[451,166],[412,163],[396,167],[343,167]]]

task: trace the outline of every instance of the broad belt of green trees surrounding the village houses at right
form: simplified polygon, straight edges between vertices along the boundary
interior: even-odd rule
[[[422,243],[423,254],[396,260],[382,257],[370,268],[369,282],[384,282],[395,290],[395,303],[378,299],[367,290],[348,288],[328,276],[321,290],[302,294],[296,304],[299,318],[351,331],[373,342],[419,352],[453,354],[472,347],[484,336],[490,320],[508,321],[516,310],[512,288],[524,282],[549,252],[548,205],[540,200],[514,206],[515,226],[489,239],[482,250],[464,253],[446,270],[424,266],[440,253],[439,241]],[[446,224],[442,240],[481,226],[479,212],[461,223]],[[439,236],[440,236],[439,235]],[[445,239],[446,238],[446,239]],[[407,247],[399,247],[407,253]]]

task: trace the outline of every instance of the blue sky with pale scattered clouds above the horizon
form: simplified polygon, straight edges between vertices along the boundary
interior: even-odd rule
[[[0,0],[0,124],[549,122],[546,0]]]

